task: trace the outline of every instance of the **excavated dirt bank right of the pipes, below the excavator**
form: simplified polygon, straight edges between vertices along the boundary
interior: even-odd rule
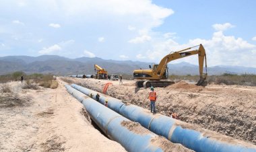
[[[111,82],[113,85],[109,85],[107,91],[109,96],[150,109],[150,90],[136,88],[135,81],[123,80],[123,84],[119,84],[119,81],[98,79],[65,79],[100,92],[104,84]],[[170,116],[176,112],[180,120],[256,144],[256,87],[200,87],[180,81],[166,88],[156,88],[155,91],[159,113]]]

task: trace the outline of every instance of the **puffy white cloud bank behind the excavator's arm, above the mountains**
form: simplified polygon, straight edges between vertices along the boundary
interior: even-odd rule
[[[160,60],[170,52],[189,48],[203,44],[207,54],[207,65],[209,67],[216,65],[241,65],[246,67],[256,66],[256,56],[251,55],[256,50],[256,45],[250,44],[242,38],[235,38],[234,36],[225,36],[223,32],[214,32],[212,38],[209,40],[195,38],[189,40],[185,44],[168,40],[152,40],[152,48],[146,52],[147,59],[160,62]],[[196,48],[194,48],[196,49]],[[172,63],[179,63],[186,61],[192,64],[198,64],[197,56],[190,56],[184,59],[172,61]]]

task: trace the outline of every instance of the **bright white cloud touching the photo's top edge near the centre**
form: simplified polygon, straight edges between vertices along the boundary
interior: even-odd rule
[[[135,20],[139,24],[143,24],[143,26],[148,26],[148,28],[159,26],[164,18],[174,13],[172,9],[155,5],[151,0],[74,0],[72,2],[61,1],[59,3],[67,15],[81,15],[82,13],[100,11],[100,14],[116,15],[122,18],[129,17],[133,22]]]

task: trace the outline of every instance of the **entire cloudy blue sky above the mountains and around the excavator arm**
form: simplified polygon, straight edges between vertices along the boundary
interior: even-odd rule
[[[208,66],[256,67],[256,1],[0,0],[0,56],[158,63],[203,44]],[[197,56],[173,61],[197,64]]]

